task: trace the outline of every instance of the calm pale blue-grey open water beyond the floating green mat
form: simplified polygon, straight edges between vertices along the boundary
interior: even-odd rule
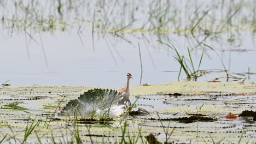
[[[74,1],[70,4],[67,1],[61,1],[61,14],[58,13],[59,5],[57,2],[34,1],[34,6],[30,7],[31,10],[36,9],[34,11],[37,11],[38,17],[42,15],[47,19],[49,15],[55,17],[54,28],[45,32],[43,29],[49,28],[50,25],[48,21],[45,22],[44,26],[38,28],[37,22],[34,22],[37,20],[35,18],[37,16],[33,11],[30,11],[27,15],[28,22],[24,24],[26,13],[22,12],[22,4],[18,4],[20,6],[15,9],[14,1],[0,2],[3,8],[0,16],[4,17],[4,22],[2,19],[0,26],[0,83],[11,80],[9,82],[11,85],[50,84],[122,87],[126,80],[126,73],[130,72],[133,75],[131,84],[139,85],[141,63],[138,43],[141,47],[142,83],[177,81],[180,65],[173,58],[174,54],[171,50],[156,40],[172,43],[181,55],[186,57],[188,57],[187,46],[189,46],[190,49],[193,49],[191,54],[196,69],[203,49],[198,44],[199,41],[203,41],[203,43],[212,46],[220,58],[215,52],[205,47],[201,70],[223,70],[220,60],[222,59],[231,75],[235,75],[232,73],[246,73],[248,68],[251,73],[256,72],[254,64],[256,38],[253,33],[255,29],[250,24],[255,16],[249,13],[255,8],[253,1],[224,3],[223,9],[221,8],[222,1],[213,4],[202,4],[202,1],[190,3],[159,1],[160,4],[155,5],[155,7],[152,1],[137,2],[133,5],[132,2],[127,2],[126,6],[124,2],[115,3],[114,1],[109,1],[103,6],[100,2],[86,5],[85,3],[89,2]],[[24,1],[23,5],[26,5],[27,2]],[[146,9],[143,9],[144,3],[148,6]],[[83,7],[83,4],[86,6]],[[172,8],[177,6],[177,14],[174,10],[167,11],[165,5],[168,4]],[[201,4],[202,7],[199,8]],[[69,9],[68,6],[70,5],[73,9]],[[135,7],[136,5],[137,7]],[[237,13],[235,11],[229,13],[229,8],[238,7],[237,5],[240,5],[241,10]],[[7,8],[8,6],[10,7]],[[42,11],[43,8],[46,9]],[[75,13],[75,8],[77,8],[78,13]],[[118,10],[120,9],[123,9],[123,16],[119,16]],[[191,14],[196,9],[200,11],[198,16]],[[200,28],[195,28],[195,35],[199,41],[193,38],[189,32],[177,31],[177,29],[184,30],[185,26],[190,28],[195,26],[195,24],[189,24],[193,21],[191,17],[194,16],[196,17],[195,20],[199,20],[204,14],[203,11],[208,9],[211,10],[203,17],[199,26],[196,26],[196,28],[200,27],[205,30],[201,31]],[[166,11],[167,15],[162,14],[161,11]],[[158,19],[157,13],[162,15],[161,20]],[[232,17],[231,24],[222,22],[226,20],[228,14],[233,13],[236,16]],[[132,21],[130,16],[132,14],[135,16],[135,21]],[[150,14],[156,16],[150,17]],[[172,21],[165,21],[171,19],[173,15],[178,16],[174,17]],[[247,22],[241,22],[242,20],[245,21],[245,17],[248,18]],[[92,35],[92,22],[94,21],[95,29]],[[147,21],[150,22],[147,23]],[[163,25],[162,30],[150,30],[150,28],[157,29],[160,25],[159,21],[165,21],[160,23]],[[63,23],[67,23],[65,31],[62,31]],[[102,23],[107,24],[103,25]],[[132,24],[129,25],[129,23]],[[174,23],[181,26],[178,27]],[[12,24],[15,26],[13,27]],[[142,29],[145,31],[134,32],[136,28],[141,28],[144,24],[146,26]],[[26,31],[22,25],[27,26]],[[220,33],[210,35],[210,37],[203,34],[207,29],[213,31],[214,28],[225,27],[226,25],[229,25],[229,30],[216,30]],[[120,27],[124,27],[121,32],[112,33],[113,29]],[[170,29],[174,29],[174,31]],[[133,32],[131,32],[132,30]],[[225,76],[225,73],[206,74],[198,80],[210,81],[221,76]],[[248,77],[248,75],[235,76]],[[182,73],[181,80],[185,80],[185,78],[185,74]],[[249,78],[247,80],[255,80],[253,75],[250,75]],[[225,81],[225,79],[222,80]]]

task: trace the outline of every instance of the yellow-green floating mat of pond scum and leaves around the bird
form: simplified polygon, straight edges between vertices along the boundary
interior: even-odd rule
[[[6,86],[0,89],[0,140],[1,143],[255,143],[253,115],[242,117],[243,113],[235,119],[225,118],[229,112],[238,116],[243,110],[255,111],[255,87],[253,82],[133,86],[133,108],[110,117],[96,112],[80,115],[75,111],[73,115],[57,116],[68,101],[92,91],[92,87]],[[149,115],[128,115],[138,108],[149,111]]]

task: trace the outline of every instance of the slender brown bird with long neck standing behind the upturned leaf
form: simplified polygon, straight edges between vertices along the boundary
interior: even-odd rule
[[[126,102],[126,103],[128,102],[129,106],[131,106],[131,101],[129,100],[129,96],[130,96],[129,82],[130,82],[130,79],[132,79],[131,73],[127,73],[126,78],[127,78],[127,81],[125,83],[125,86],[119,92],[119,94],[122,96],[122,98],[118,101],[118,103],[124,104],[124,102]]]

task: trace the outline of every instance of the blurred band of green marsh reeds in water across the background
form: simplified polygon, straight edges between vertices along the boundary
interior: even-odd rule
[[[144,7],[145,6],[145,7]],[[149,41],[147,33],[159,40],[171,39],[170,33],[184,35],[191,45],[200,47],[207,40],[234,45],[241,31],[255,35],[256,10],[254,1],[1,1],[2,27],[7,35],[24,34],[39,44],[39,33],[74,31],[84,46],[83,33],[91,31],[103,38],[114,36],[107,43],[122,39],[133,44],[127,35]],[[144,19],[141,19],[144,17]],[[139,33],[139,35],[135,34]],[[167,34],[166,34],[167,33]],[[5,33],[1,34],[7,38]],[[227,38],[226,38],[227,36]],[[92,41],[93,45],[94,40]],[[152,45],[152,44],[150,44]],[[93,46],[95,52],[95,46]],[[28,57],[29,50],[27,49]]]

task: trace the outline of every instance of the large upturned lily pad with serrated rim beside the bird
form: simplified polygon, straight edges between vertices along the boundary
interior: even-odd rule
[[[77,112],[81,116],[96,116],[99,113],[104,115],[109,112],[109,117],[117,116],[124,108],[123,104],[118,103],[121,98],[121,95],[112,89],[91,89],[81,94],[78,99],[69,101],[59,115],[71,116]]]

